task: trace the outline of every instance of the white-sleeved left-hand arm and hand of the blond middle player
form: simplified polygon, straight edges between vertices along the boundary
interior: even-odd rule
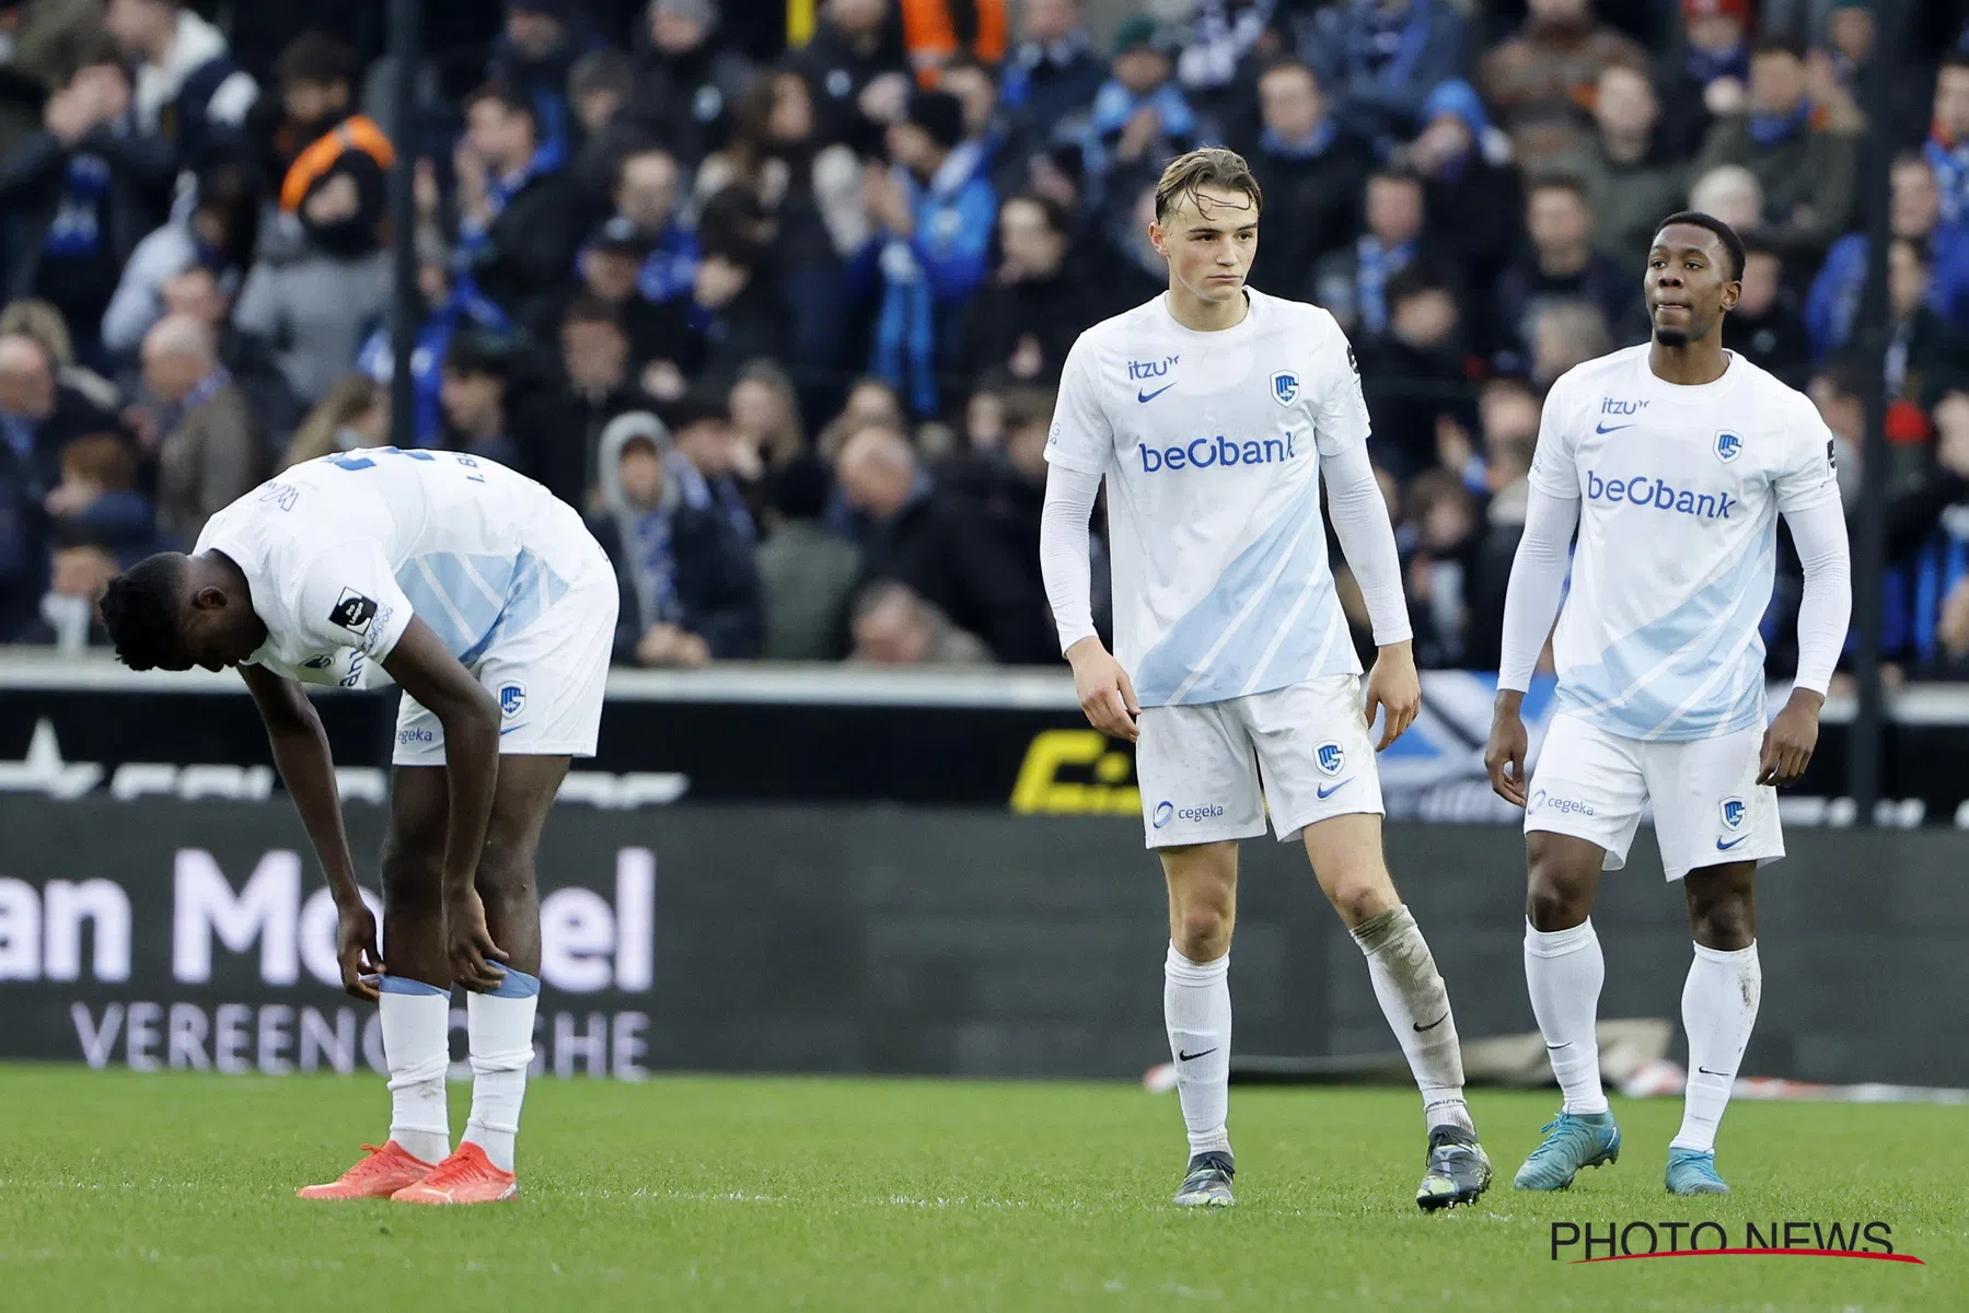
[[[1059,650],[1073,665],[1073,691],[1087,722],[1112,738],[1140,734],[1128,671],[1095,634],[1091,533],[1095,496],[1112,443],[1097,394],[1093,348],[1083,335],[1059,380],[1053,427],[1046,437],[1046,504],[1040,510],[1040,575],[1059,628]]]

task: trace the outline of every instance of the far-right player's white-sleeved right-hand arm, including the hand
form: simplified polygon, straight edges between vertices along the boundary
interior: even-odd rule
[[[1792,681],[1792,697],[1764,730],[1756,770],[1758,783],[1774,785],[1798,783],[1811,764],[1819,746],[1819,709],[1853,620],[1853,557],[1839,478],[1833,472],[1831,435],[1811,433],[1806,447],[1800,467],[1778,482],[1780,510],[1792,530],[1798,563],[1806,569],[1806,589],[1798,598],[1798,677]]]

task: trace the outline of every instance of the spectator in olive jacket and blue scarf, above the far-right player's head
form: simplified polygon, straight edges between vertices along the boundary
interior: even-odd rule
[[[1817,260],[1853,215],[1857,146],[1806,93],[1798,45],[1764,41],[1750,57],[1745,112],[1709,128],[1691,175],[1725,163],[1750,169],[1764,191],[1764,236],[1790,256]]]

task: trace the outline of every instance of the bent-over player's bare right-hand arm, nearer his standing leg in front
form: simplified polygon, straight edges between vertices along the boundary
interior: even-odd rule
[[[486,844],[492,789],[498,783],[498,703],[417,616],[410,618],[404,636],[382,657],[382,667],[445,726],[451,805],[445,819],[443,880],[451,970],[467,988],[498,988],[502,972],[488,959],[506,961],[506,953],[486,931],[476,890],[478,854]]]

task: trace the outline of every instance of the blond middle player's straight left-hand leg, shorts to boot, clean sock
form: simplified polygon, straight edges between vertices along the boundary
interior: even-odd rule
[[[1136,744],[1142,829],[1170,890],[1162,1020],[1189,1136],[1177,1205],[1229,1205],[1231,933],[1237,841],[1264,833],[1250,742],[1225,703],[1148,707]]]

